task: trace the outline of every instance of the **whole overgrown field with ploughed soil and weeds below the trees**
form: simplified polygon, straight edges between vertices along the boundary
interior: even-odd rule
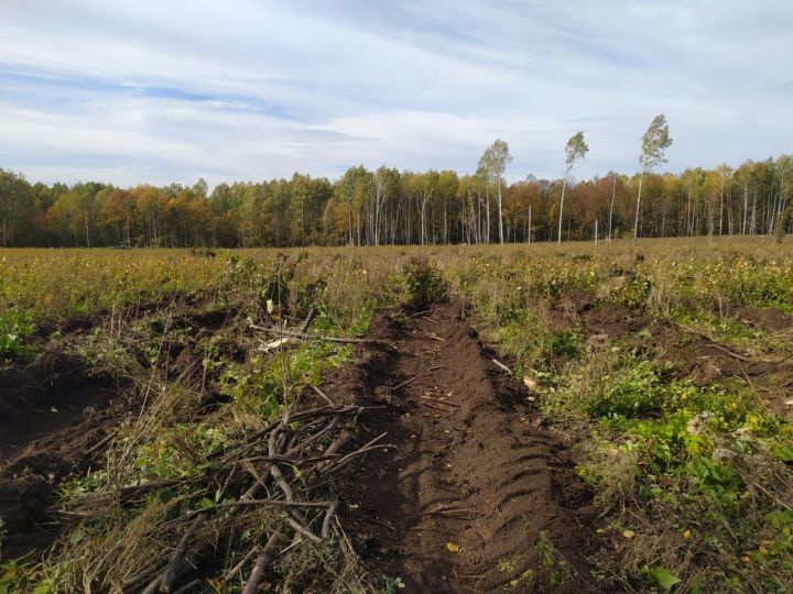
[[[0,593],[786,592],[772,238],[0,250]]]

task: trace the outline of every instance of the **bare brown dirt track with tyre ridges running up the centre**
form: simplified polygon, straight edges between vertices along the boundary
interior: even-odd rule
[[[359,553],[408,592],[593,590],[585,486],[459,308],[381,318],[372,336],[390,346],[328,387],[385,404],[360,439],[398,446],[368,459],[347,502]]]

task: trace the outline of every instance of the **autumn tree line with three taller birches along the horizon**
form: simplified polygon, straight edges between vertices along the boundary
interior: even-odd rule
[[[658,120],[658,118],[656,118]],[[793,156],[656,174],[665,120],[643,139],[639,170],[574,183],[588,147],[566,146],[560,179],[507,184],[496,141],[474,174],[350,167],[329,180],[193,186],[31,184],[0,169],[2,246],[294,246],[509,243],[791,232]],[[645,146],[644,143],[650,145]]]

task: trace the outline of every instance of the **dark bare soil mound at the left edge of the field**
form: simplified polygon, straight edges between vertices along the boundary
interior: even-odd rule
[[[28,367],[0,369],[0,559],[46,548],[59,526],[50,510],[57,483],[87,468],[115,425],[116,391],[78,358],[45,351]]]

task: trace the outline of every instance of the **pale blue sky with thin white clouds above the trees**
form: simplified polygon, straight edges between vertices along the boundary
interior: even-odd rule
[[[120,185],[336,177],[348,166],[510,179],[637,167],[666,113],[672,170],[790,153],[793,2],[3,0],[0,167]]]

